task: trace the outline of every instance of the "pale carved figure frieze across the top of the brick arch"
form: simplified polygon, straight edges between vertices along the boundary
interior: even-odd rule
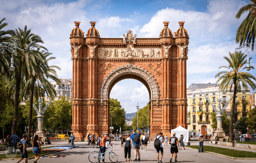
[[[160,48],[98,48],[99,58],[161,57]]]

